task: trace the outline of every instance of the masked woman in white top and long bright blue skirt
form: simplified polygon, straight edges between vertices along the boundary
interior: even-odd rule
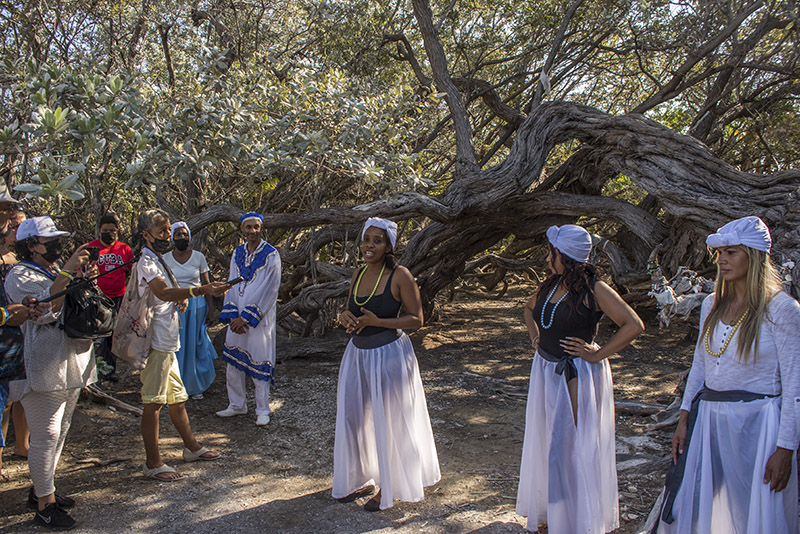
[[[175,249],[164,254],[180,287],[197,287],[211,282],[208,262],[202,252],[192,250],[189,241],[192,233],[181,221],[172,225]],[[175,353],[181,370],[181,379],[192,399],[200,400],[216,377],[214,360],[217,352],[206,332],[206,326],[216,319],[211,295],[189,299],[186,311],[180,314],[181,348]]]

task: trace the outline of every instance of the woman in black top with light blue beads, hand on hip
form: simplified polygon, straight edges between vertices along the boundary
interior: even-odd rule
[[[610,532],[619,526],[614,396],[608,357],[644,324],[588,263],[580,226],[547,230],[550,276],[525,306],[535,350],[525,415],[517,513],[528,530]],[[603,314],[620,328],[595,343]]]

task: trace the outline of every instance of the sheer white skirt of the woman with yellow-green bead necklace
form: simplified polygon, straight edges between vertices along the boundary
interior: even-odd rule
[[[421,501],[441,478],[414,347],[407,335],[375,349],[347,344],[339,368],[333,497],[367,484],[394,499]]]

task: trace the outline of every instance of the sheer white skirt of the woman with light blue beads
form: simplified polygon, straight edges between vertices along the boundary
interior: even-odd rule
[[[528,530],[547,523],[553,534],[602,534],[619,527],[611,367],[574,361],[577,426],[564,375],[534,356],[517,513],[528,518]]]

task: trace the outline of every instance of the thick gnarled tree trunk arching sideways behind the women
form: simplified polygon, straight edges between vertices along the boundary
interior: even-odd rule
[[[651,199],[644,207],[611,197],[542,191],[532,188],[552,149],[578,140],[593,154],[587,164],[601,165],[630,177]],[[404,193],[352,207],[321,208],[299,213],[266,214],[266,228],[308,228],[352,225],[332,234],[317,232],[321,243],[354,239],[358,225],[370,216],[430,222],[410,236],[400,262],[417,277],[426,316],[434,313],[436,295],[464,272],[467,262],[509,235],[542,239],[551,224],[595,217],[624,227],[652,250],[662,245],[661,257],[696,268],[705,257],[704,235],[743,215],[762,217],[772,230],[776,258],[800,265],[800,171],[772,175],[748,174],[716,158],[698,140],[678,134],[639,115],[613,116],[567,102],[538,106],[520,126],[509,157],[479,173],[457,174],[439,196]],[[647,206],[656,203],[666,220]],[[189,217],[193,231],[218,221],[238,221],[241,210],[214,206]],[[345,237],[349,236],[349,237]],[[316,238],[315,238],[316,239]],[[646,264],[631,263],[619,243],[608,236],[602,252],[625,285],[641,281]],[[297,250],[287,259],[297,268],[312,252]],[[649,253],[648,250],[648,253]],[[296,256],[296,257],[295,257]],[[646,257],[646,255],[645,255]],[[663,263],[662,263],[663,265]],[[800,280],[795,267],[794,280]],[[335,276],[335,273],[332,274]],[[797,282],[794,283],[797,290]],[[301,316],[322,306],[325,299],[346,294],[348,278],[305,286],[287,303],[281,317]]]

